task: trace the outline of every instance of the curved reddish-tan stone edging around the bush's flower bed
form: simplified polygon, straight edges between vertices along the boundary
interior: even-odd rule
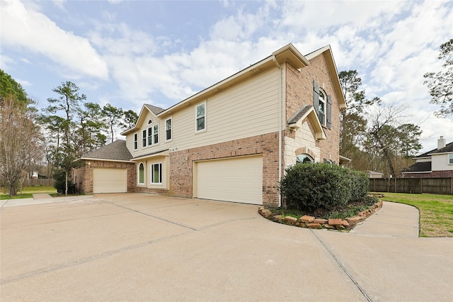
[[[352,228],[357,225],[357,223],[361,223],[363,220],[367,219],[376,211],[382,208],[382,201],[378,201],[374,203],[366,211],[362,211],[358,213],[357,216],[346,218],[345,220],[342,219],[321,219],[316,218],[313,216],[302,216],[301,218],[297,219],[291,216],[282,217],[281,215],[274,215],[270,210],[264,207],[258,208],[258,213],[264,218],[274,221],[276,223],[282,223],[285,225],[294,225],[299,228],[314,228],[314,229],[321,229],[325,228],[328,230],[351,230]]]

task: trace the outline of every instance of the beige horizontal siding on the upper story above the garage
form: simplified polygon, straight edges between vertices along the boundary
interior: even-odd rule
[[[168,142],[165,141],[164,124],[168,116],[159,119],[149,113],[142,128],[137,130],[138,149],[133,149],[134,133],[127,135],[127,147],[133,157],[138,157],[173,147],[185,150],[273,133],[278,130],[279,72],[277,68],[260,72],[209,99],[180,106],[172,113],[173,138]],[[206,131],[195,133],[195,107],[203,101],[206,101]],[[142,147],[142,130],[148,128],[149,118],[153,120],[152,125],[159,120],[159,145]]]

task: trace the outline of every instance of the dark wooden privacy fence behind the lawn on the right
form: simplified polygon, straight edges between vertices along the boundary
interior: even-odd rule
[[[391,179],[372,178],[369,179],[369,191],[453,195],[453,177]]]

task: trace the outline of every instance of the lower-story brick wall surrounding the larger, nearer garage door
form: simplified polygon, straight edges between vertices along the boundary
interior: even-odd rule
[[[190,198],[193,196],[193,162],[245,155],[263,155],[263,204],[278,206],[278,132],[171,152],[169,189],[136,187],[135,191]]]

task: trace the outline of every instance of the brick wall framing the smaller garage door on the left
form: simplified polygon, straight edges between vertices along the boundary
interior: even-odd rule
[[[76,189],[81,194],[93,194],[93,168],[127,169],[127,191],[133,192],[135,190],[137,172],[133,162],[84,160],[84,165],[79,169],[74,170]]]

